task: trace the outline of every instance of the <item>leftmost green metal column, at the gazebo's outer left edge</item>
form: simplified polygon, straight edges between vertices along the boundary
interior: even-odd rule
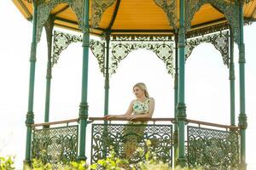
[[[26,114],[26,156],[24,164],[31,161],[31,142],[32,142],[32,124],[34,123],[33,100],[34,100],[34,82],[36,69],[36,55],[37,55],[37,17],[38,5],[37,1],[33,1],[33,21],[32,21],[32,45],[30,52],[30,75],[29,75],[29,94],[28,94],[28,108]]]

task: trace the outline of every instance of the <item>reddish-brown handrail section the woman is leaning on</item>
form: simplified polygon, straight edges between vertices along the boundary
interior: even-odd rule
[[[89,117],[89,120],[94,122],[94,121],[129,121],[126,118],[120,118],[120,117],[115,117],[115,118],[106,118],[106,117]],[[174,118],[146,118],[146,117],[138,117],[136,119],[133,119],[132,122],[175,122]]]

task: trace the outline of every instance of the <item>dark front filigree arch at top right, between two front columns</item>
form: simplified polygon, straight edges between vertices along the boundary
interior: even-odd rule
[[[191,21],[196,12],[198,12],[201,6],[210,4],[214,8],[220,10],[226,20],[228,20],[232,30],[234,41],[238,43],[239,39],[239,4],[236,1],[223,1],[223,0],[186,0],[186,30],[191,27]]]

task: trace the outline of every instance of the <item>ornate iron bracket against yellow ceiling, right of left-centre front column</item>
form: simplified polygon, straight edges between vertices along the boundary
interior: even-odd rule
[[[116,0],[93,0],[92,1],[92,19],[91,26],[96,28],[99,26],[100,21],[102,20],[102,14],[104,11],[111,7]]]

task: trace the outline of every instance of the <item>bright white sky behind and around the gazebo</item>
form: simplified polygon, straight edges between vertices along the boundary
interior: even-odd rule
[[[0,1],[0,156],[15,156],[16,168],[21,169],[25,158],[26,111],[29,83],[29,57],[32,23],[25,20],[10,0]],[[256,131],[256,24],[245,26],[246,46],[246,113],[247,169],[256,169],[254,147]],[[67,31],[78,34],[78,32]],[[38,43],[34,114],[35,122],[44,122],[47,48],[43,32]],[[198,121],[230,124],[229,70],[212,44],[196,47],[186,62],[185,103],[187,118]],[[239,114],[239,65],[235,46],[236,124]],[[79,116],[82,77],[81,43],[71,44],[61,53],[53,68],[49,121]],[[137,50],[121,61],[110,79],[109,113],[123,114],[134,99],[132,87],[145,82],[149,95],[155,99],[154,117],[173,117],[173,78],[167,74],[163,61],[153,52]],[[102,116],[104,110],[104,78],[96,58],[90,53],[88,82],[89,116]],[[90,126],[88,127],[90,130]],[[90,133],[88,133],[90,136]],[[87,137],[88,137],[87,136]],[[89,137],[88,137],[89,138]],[[90,141],[88,141],[90,144]],[[89,156],[86,147],[86,155]]]

